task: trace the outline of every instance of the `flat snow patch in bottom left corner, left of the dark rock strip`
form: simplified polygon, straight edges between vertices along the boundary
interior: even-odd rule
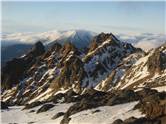
[[[27,124],[34,122],[35,124],[59,124],[62,117],[52,120],[51,118],[58,112],[65,112],[72,104],[57,104],[55,107],[50,109],[48,112],[36,114],[36,112],[29,113],[31,110],[37,110],[39,107],[35,107],[30,110],[23,110],[23,106],[11,107],[8,111],[2,111],[2,124],[18,123]]]

